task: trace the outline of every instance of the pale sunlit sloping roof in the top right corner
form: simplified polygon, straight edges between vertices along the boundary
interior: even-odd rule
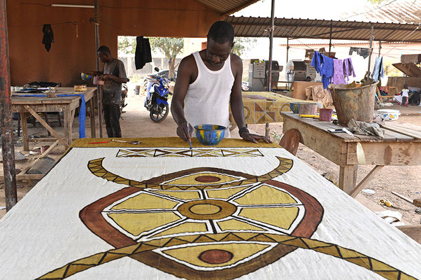
[[[368,4],[340,15],[341,20],[377,21],[394,23],[421,22],[420,0],[390,0],[378,5]]]

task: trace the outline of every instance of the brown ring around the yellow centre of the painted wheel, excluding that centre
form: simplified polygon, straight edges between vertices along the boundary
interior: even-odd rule
[[[211,204],[220,209],[220,211],[215,214],[197,214],[194,213],[195,206],[203,206],[204,204]],[[236,206],[225,202],[223,200],[190,200],[185,202],[178,207],[180,214],[186,216],[187,218],[192,218],[194,220],[219,220],[231,216],[236,211]]]

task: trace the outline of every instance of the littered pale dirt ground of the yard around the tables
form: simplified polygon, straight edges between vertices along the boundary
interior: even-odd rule
[[[153,123],[149,118],[149,112],[143,107],[143,96],[134,94],[134,85],[129,86],[129,96],[127,97],[128,106],[125,107],[121,120],[122,135],[123,137],[171,137],[176,136],[176,123],[171,117],[171,113],[162,123]],[[401,107],[394,106],[390,109],[399,109],[402,112],[399,121],[404,123],[412,123],[414,125],[421,125],[421,107],[418,106],[409,106]],[[52,127],[54,127],[57,132],[62,132],[63,128],[59,127],[58,121],[55,121],[54,116],[50,117],[52,119]],[[78,121],[77,118],[73,124],[73,137],[78,137]],[[269,128],[271,130],[271,138],[275,139],[276,137],[282,134],[282,123],[271,123]],[[97,125],[98,126],[98,125]],[[15,126],[17,127],[17,126]],[[36,127],[28,125],[29,135],[34,138],[46,137],[46,130],[41,128],[41,125],[38,123]],[[87,118],[86,121],[87,127],[87,136],[90,136],[90,120]],[[104,125],[105,127],[105,125]],[[249,125],[251,132],[257,134],[264,134],[264,125]],[[239,138],[237,130],[231,133],[231,137]],[[98,134],[98,132],[97,132]],[[104,137],[106,137],[106,132],[104,129]],[[19,137],[15,137],[19,139]],[[30,148],[32,151],[34,148],[48,145],[48,143],[31,143]],[[22,151],[22,142],[17,141],[15,145],[15,151]],[[24,153],[24,152],[22,152]],[[50,158],[57,160],[60,155],[64,153],[64,148],[59,146],[48,155]],[[27,154],[27,153],[24,153]],[[297,157],[306,162],[308,165],[313,167],[319,174],[325,174],[326,172],[333,172],[336,176],[336,180],[339,174],[339,167],[329,160],[323,158],[321,155],[318,155],[310,148],[306,148],[300,144]],[[32,162],[36,155],[27,155],[27,160],[24,162],[17,162],[16,168],[22,169],[24,166],[29,165]],[[362,180],[366,174],[370,172],[373,166],[369,165],[360,165],[358,169],[358,181]],[[2,173],[1,168],[1,173]],[[26,195],[29,190],[36,184],[36,181],[18,181],[17,182],[17,196],[20,200],[24,195]],[[399,211],[403,215],[402,220],[406,224],[417,225],[420,224],[421,215],[415,213],[416,207],[404,200],[401,200],[399,197],[396,197],[391,192],[396,191],[401,195],[406,197],[411,197],[411,199],[421,197],[421,166],[414,167],[384,167],[380,170],[380,173],[377,174],[373,180],[369,183],[369,186],[366,188],[373,190],[375,193],[367,194],[360,193],[356,199],[362,203],[371,211],[384,211],[392,210]],[[380,206],[378,202],[380,199],[389,200],[392,202],[394,207],[399,209],[387,208]],[[1,209],[6,205],[4,187],[0,185],[0,218],[6,214],[5,209]]]

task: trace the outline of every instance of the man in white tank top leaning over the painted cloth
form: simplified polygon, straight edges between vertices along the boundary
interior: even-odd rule
[[[231,53],[234,28],[224,21],[215,22],[208,31],[207,48],[194,52],[180,62],[174,87],[171,113],[184,141],[192,138],[195,125],[222,125],[229,137],[229,104],[239,134],[245,141],[257,143],[266,137],[250,134],[245,127],[241,80],[243,62]],[[188,128],[187,128],[188,127]]]

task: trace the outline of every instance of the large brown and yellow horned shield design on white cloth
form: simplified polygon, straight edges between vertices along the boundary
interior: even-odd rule
[[[65,279],[124,257],[184,279],[234,279],[297,248],[352,262],[386,279],[415,279],[368,255],[311,239],[322,221],[322,205],[303,190],[272,180],[288,172],[292,160],[278,158],[278,167],[261,176],[199,167],[142,182],[108,172],[103,160],[90,161],[92,174],[136,186],[88,205],[80,218],[115,248],[38,279]],[[217,183],[220,179],[227,180]]]

